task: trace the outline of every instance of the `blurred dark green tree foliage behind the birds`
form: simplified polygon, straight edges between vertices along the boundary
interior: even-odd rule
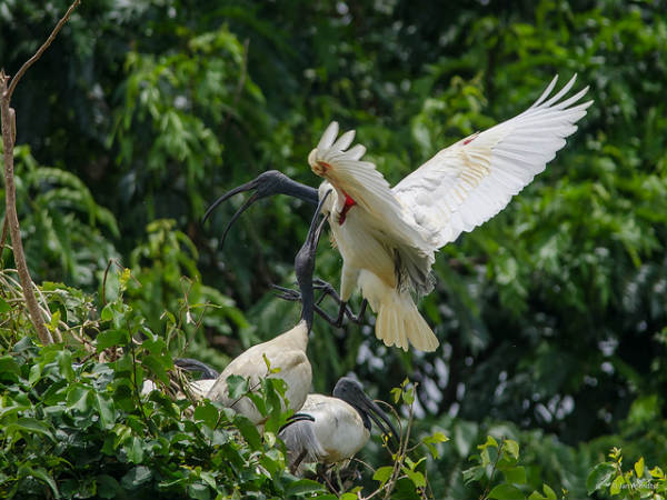
[[[67,7],[2,0],[9,74]],[[420,309],[440,349],[404,353],[369,326],[316,320],[313,386],[330,392],[354,371],[388,400],[406,376],[419,382],[417,428],[452,438],[429,480],[457,498],[470,494],[460,470],[487,432],[519,440],[529,477],[571,498],[613,444],[665,464],[666,11],[614,0],[84,1],[12,100],[29,268],[38,283],[99,292],[116,259],[156,332],[165,310],[220,304],[188,353],[221,369],[296,322],[298,306],[269,283],[293,283],[312,208],[257,203],[220,248],[242,197],[202,226],[208,203],[268,169],[318,186],[306,158],[331,120],[356,129],[396,183],[522,111],[554,74],[563,84],[578,73],[595,103],[565,149],[439,252]],[[338,286],[340,263],[322,240],[317,274]]]

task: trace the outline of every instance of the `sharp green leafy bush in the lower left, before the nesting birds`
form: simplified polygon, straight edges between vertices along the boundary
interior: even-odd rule
[[[52,304],[64,298],[68,310],[89,301],[50,288],[58,292]],[[323,491],[289,474],[281,444],[268,432],[260,439],[245,417],[210,401],[192,411],[191,401],[172,399],[167,344],[122,294],[88,327],[99,331],[94,341],[72,343],[78,337],[69,347],[40,348],[27,337],[0,357],[3,498],[306,498]],[[140,343],[131,340],[138,332]],[[149,378],[167,392],[145,396]],[[252,393],[269,418],[267,429],[287,417],[278,382],[265,379]]]

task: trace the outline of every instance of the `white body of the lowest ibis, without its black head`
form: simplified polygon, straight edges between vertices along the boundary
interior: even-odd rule
[[[299,413],[308,413],[315,421],[291,423],[282,438],[288,450],[306,450],[305,462],[347,460],[370,438],[370,430],[364,426],[359,412],[341,399],[308,394]]]

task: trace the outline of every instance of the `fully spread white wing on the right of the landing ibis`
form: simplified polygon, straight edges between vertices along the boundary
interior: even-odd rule
[[[392,189],[434,248],[489,220],[554,159],[593,103],[576,104],[588,87],[561,100],[575,79],[548,99],[555,77],[526,111],[441,150]]]

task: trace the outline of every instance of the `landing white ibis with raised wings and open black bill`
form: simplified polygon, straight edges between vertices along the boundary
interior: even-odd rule
[[[549,97],[557,79],[526,111],[442,149],[394,188],[374,163],[361,160],[364,146],[350,148],[354,130],[337,139],[338,123],[329,124],[308,162],[326,179],[319,199],[334,189],[322,210],[329,214],[332,241],[344,260],[337,324],[359,287],[364,306],[367,300],[378,314],[376,336],[387,346],[407,350],[411,343],[422,351],[438,347],[411,293],[419,297],[431,291],[435,251],[502,210],[575,132],[575,123],[593,102],[577,103],[588,87],[564,99],[575,76]],[[270,171],[222,196],[206,217],[230,196],[250,189],[256,192],[229,226],[268,194],[313,202],[312,188]]]

